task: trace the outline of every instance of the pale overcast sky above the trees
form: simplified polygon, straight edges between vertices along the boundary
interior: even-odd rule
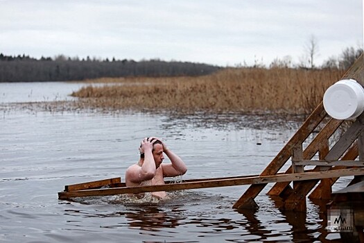
[[[362,0],[0,0],[0,53],[236,65],[363,47]]]

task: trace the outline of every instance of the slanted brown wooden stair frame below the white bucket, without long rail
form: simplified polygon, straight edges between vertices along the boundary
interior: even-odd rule
[[[361,85],[364,84],[364,61],[363,54],[356,60],[354,65],[349,68],[342,79],[353,78]],[[313,171],[333,171],[345,169],[347,167],[362,167],[364,160],[364,115],[359,116],[356,121],[347,128],[345,133],[336,141],[329,144],[329,140],[335,131],[341,126],[343,120],[329,117],[324,110],[321,102],[312,114],[304,121],[304,124],[293,135],[283,149],[263,170],[260,176],[271,176],[283,167],[291,158],[291,166],[286,170],[286,174],[303,172],[307,165],[315,166]],[[319,130],[319,133],[313,131]],[[314,137],[309,145],[303,149],[303,144],[307,137]],[[312,160],[317,156],[319,160]],[[359,156],[360,161],[356,160]],[[340,177],[311,181],[294,181],[293,188],[289,181],[276,183],[268,192],[269,195],[281,196],[284,210],[306,210],[306,196],[315,188],[309,197],[311,199],[330,199],[331,186]],[[319,184],[318,184],[319,183]],[[316,186],[317,185],[317,186]],[[255,197],[263,190],[266,184],[251,185],[236,201],[234,208],[257,207],[254,202]]]

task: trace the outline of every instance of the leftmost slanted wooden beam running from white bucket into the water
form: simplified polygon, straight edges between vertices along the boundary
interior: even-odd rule
[[[324,119],[327,115],[324,110],[323,103],[321,102],[317,108],[311,113],[311,115],[304,121],[304,124],[298,129],[298,131],[291,137],[291,139],[287,142],[287,144],[279,151],[277,156],[270,162],[270,164],[263,170],[261,176],[269,176],[277,174],[279,169],[287,162],[287,160],[291,157],[291,149],[297,143],[304,142],[306,138],[312,133],[313,129],[315,129],[318,124]],[[264,189],[266,185],[250,185],[248,190],[244,192],[244,194],[240,197],[238,201],[234,204],[233,208],[243,208],[244,205],[247,208],[250,208],[252,205],[249,201],[251,199],[255,199],[257,195]]]

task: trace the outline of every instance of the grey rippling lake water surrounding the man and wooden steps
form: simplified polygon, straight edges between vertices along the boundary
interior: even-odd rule
[[[170,192],[171,199],[161,202],[126,203],[123,196],[58,200],[64,185],[123,180],[146,136],[162,137],[183,158],[189,169],[184,179],[242,176],[260,174],[300,126],[285,117],[47,112],[17,106],[71,100],[67,95],[82,85],[0,83],[0,242],[340,241],[340,235],[324,229],[324,212],[311,201],[306,215],[280,212],[265,194],[270,185],[257,196],[259,209],[239,212],[232,205],[246,186]]]

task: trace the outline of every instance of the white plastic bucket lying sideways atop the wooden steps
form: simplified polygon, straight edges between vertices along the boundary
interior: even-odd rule
[[[335,119],[354,119],[364,111],[364,88],[354,79],[331,85],[324,93],[324,109]]]

